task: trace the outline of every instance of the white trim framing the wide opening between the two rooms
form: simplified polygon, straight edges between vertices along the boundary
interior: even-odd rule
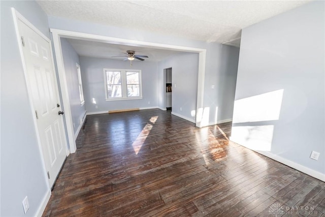
[[[66,123],[67,123],[67,131],[68,131],[71,153],[74,153],[76,151],[76,142],[75,142],[75,136],[74,136],[74,130],[73,130],[73,121],[72,121],[72,115],[71,115],[66,72],[64,70],[64,65],[63,65],[63,55],[62,55],[61,40],[60,40],[61,38],[91,40],[91,41],[103,42],[103,43],[109,43],[109,44],[123,44],[123,45],[129,45],[129,46],[142,46],[142,47],[151,47],[151,48],[158,48],[158,49],[163,48],[163,49],[168,49],[168,50],[199,53],[197,114],[198,114],[198,111],[202,110],[202,108],[203,108],[203,94],[204,94],[206,49],[169,45],[169,44],[152,43],[152,42],[145,42],[145,41],[135,41],[135,40],[128,40],[128,39],[123,39],[123,38],[113,38],[113,37],[107,37],[107,36],[101,36],[101,35],[72,32],[72,31],[68,31],[68,30],[55,29],[55,28],[51,28],[50,31],[53,36],[53,45],[54,45],[57,70],[58,70],[58,75],[59,75],[59,80],[60,80],[64,112],[66,112],[65,113],[66,120],[67,120]],[[198,119],[198,118],[196,118],[196,119]],[[201,121],[196,120],[196,125],[197,125],[197,127],[202,127]]]

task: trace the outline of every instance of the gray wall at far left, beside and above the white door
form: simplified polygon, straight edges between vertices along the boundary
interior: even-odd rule
[[[11,7],[49,37],[47,15],[34,1],[1,1],[1,216],[34,216],[46,193],[41,153],[27,96]],[[28,196],[29,210],[22,200]]]

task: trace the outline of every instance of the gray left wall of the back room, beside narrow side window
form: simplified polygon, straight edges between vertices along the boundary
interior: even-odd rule
[[[75,135],[78,132],[78,128],[80,127],[80,119],[86,112],[85,105],[80,105],[80,97],[79,97],[79,80],[78,80],[78,72],[76,68],[76,64],[80,66],[79,56],[71,46],[71,44],[67,41],[67,39],[61,39],[62,46],[62,55],[64,61],[64,71],[66,72],[66,79],[68,85],[69,92],[69,101],[70,108],[72,114],[72,121],[74,124],[74,132]],[[81,67],[80,67],[81,68]],[[82,71],[82,68],[81,68]]]

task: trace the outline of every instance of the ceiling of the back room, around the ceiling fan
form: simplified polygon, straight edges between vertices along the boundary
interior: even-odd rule
[[[80,56],[90,56],[97,58],[112,58],[123,60],[125,57],[120,56],[126,53],[126,50],[136,51],[136,55],[147,55],[149,58],[144,58],[146,61],[161,61],[168,56],[180,53],[180,51],[153,49],[145,47],[126,46],[119,44],[109,44],[102,42],[93,42],[77,39],[67,39]],[[138,60],[135,60],[138,61]]]

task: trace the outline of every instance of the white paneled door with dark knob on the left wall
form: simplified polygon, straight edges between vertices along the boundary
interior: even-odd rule
[[[23,59],[37,118],[45,168],[52,187],[64,160],[67,140],[55,77],[50,42],[18,20]]]

